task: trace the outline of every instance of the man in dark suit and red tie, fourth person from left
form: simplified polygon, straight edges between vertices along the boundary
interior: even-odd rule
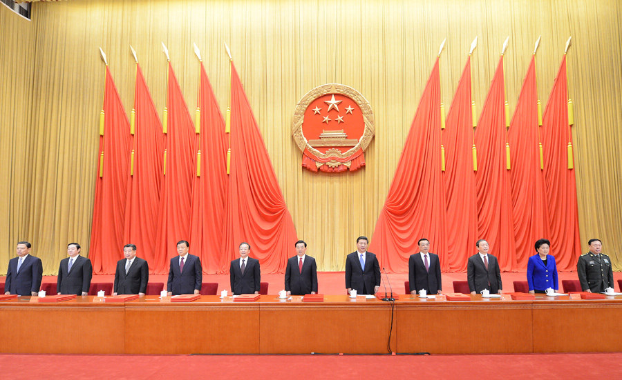
[[[200,294],[203,281],[201,260],[189,254],[190,243],[185,240],[177,242],[178,257],[171,259],[167,292],[169,296],[178,294]]]

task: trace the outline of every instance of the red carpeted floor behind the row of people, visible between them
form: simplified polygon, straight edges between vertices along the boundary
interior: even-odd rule
[[[318,272],[318,287],[319,292],[322,294],[345,294],[346,293],[346,280],[343,272]],[[386,279],[384,274],[383,279]],[[401,274],[388,274],[390,285],[393,286],[393,290],[398,294],[404,294],[404,281],[408,281],[408,273]],[[444,273],[443,278],[443,290],[445,292],[453,292],[453,281],[466,281],[466,273]],[[113,282],[115,277],[110,275],[93,276],[93,282]],[[261,281],[267,281],[270,283],[268,288],[269,294],[278,294],[279,290],[284,288],[283,274],[261,274]],[[507,292],[513,292],[513,281],[527,281],[526,272],[503,272],[501,273],[501,279],[503,283],[503,289]],[[561,280],[576,280],[578,279],[576,272],[560,272],[559,273],[559,286],[561,290]],[[622,272],[614,272],[614,279],[616,280],[616,290],[619,290],[617,280],[622,279]],[[56,276],[44,276],[43,281],[56,281]],[[166,274],[151,274],[149,276],[150,282],[162,282],[164,286],[167,283]],[[0,282],[4,282],[4,277],[0,277]],[[229,287],[229,274],[203,274],[203,282],[217,282],[218,292],[223,289],[230,290]],[[384,289],[381,286],[381,290]],[[388,288],[388,286],[387,286]]]

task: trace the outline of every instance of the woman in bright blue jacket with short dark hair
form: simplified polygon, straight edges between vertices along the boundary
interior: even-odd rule
[[[548,288],[557,292],[557,266],[555,257],[549,254],[551,242],[547,239],[536,241],[537,254],[529,257],[527,262],[527,283],[530,293],[545,293]]]

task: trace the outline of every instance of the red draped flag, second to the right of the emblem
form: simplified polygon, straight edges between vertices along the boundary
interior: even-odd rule
[[[471,57],[466,59],[462,77],[447,114],[443,132],[445,146],[447,265],[451,272],[466,272],[466,259],[475,252],[478,240],[477,199],[473,172],[473,117],[471,111]]]

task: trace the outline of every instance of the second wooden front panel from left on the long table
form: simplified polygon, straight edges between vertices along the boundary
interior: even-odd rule
[[[149,296],[126,303],[128,354],[257,354],[259,305],[202,296],[160,303]]]

